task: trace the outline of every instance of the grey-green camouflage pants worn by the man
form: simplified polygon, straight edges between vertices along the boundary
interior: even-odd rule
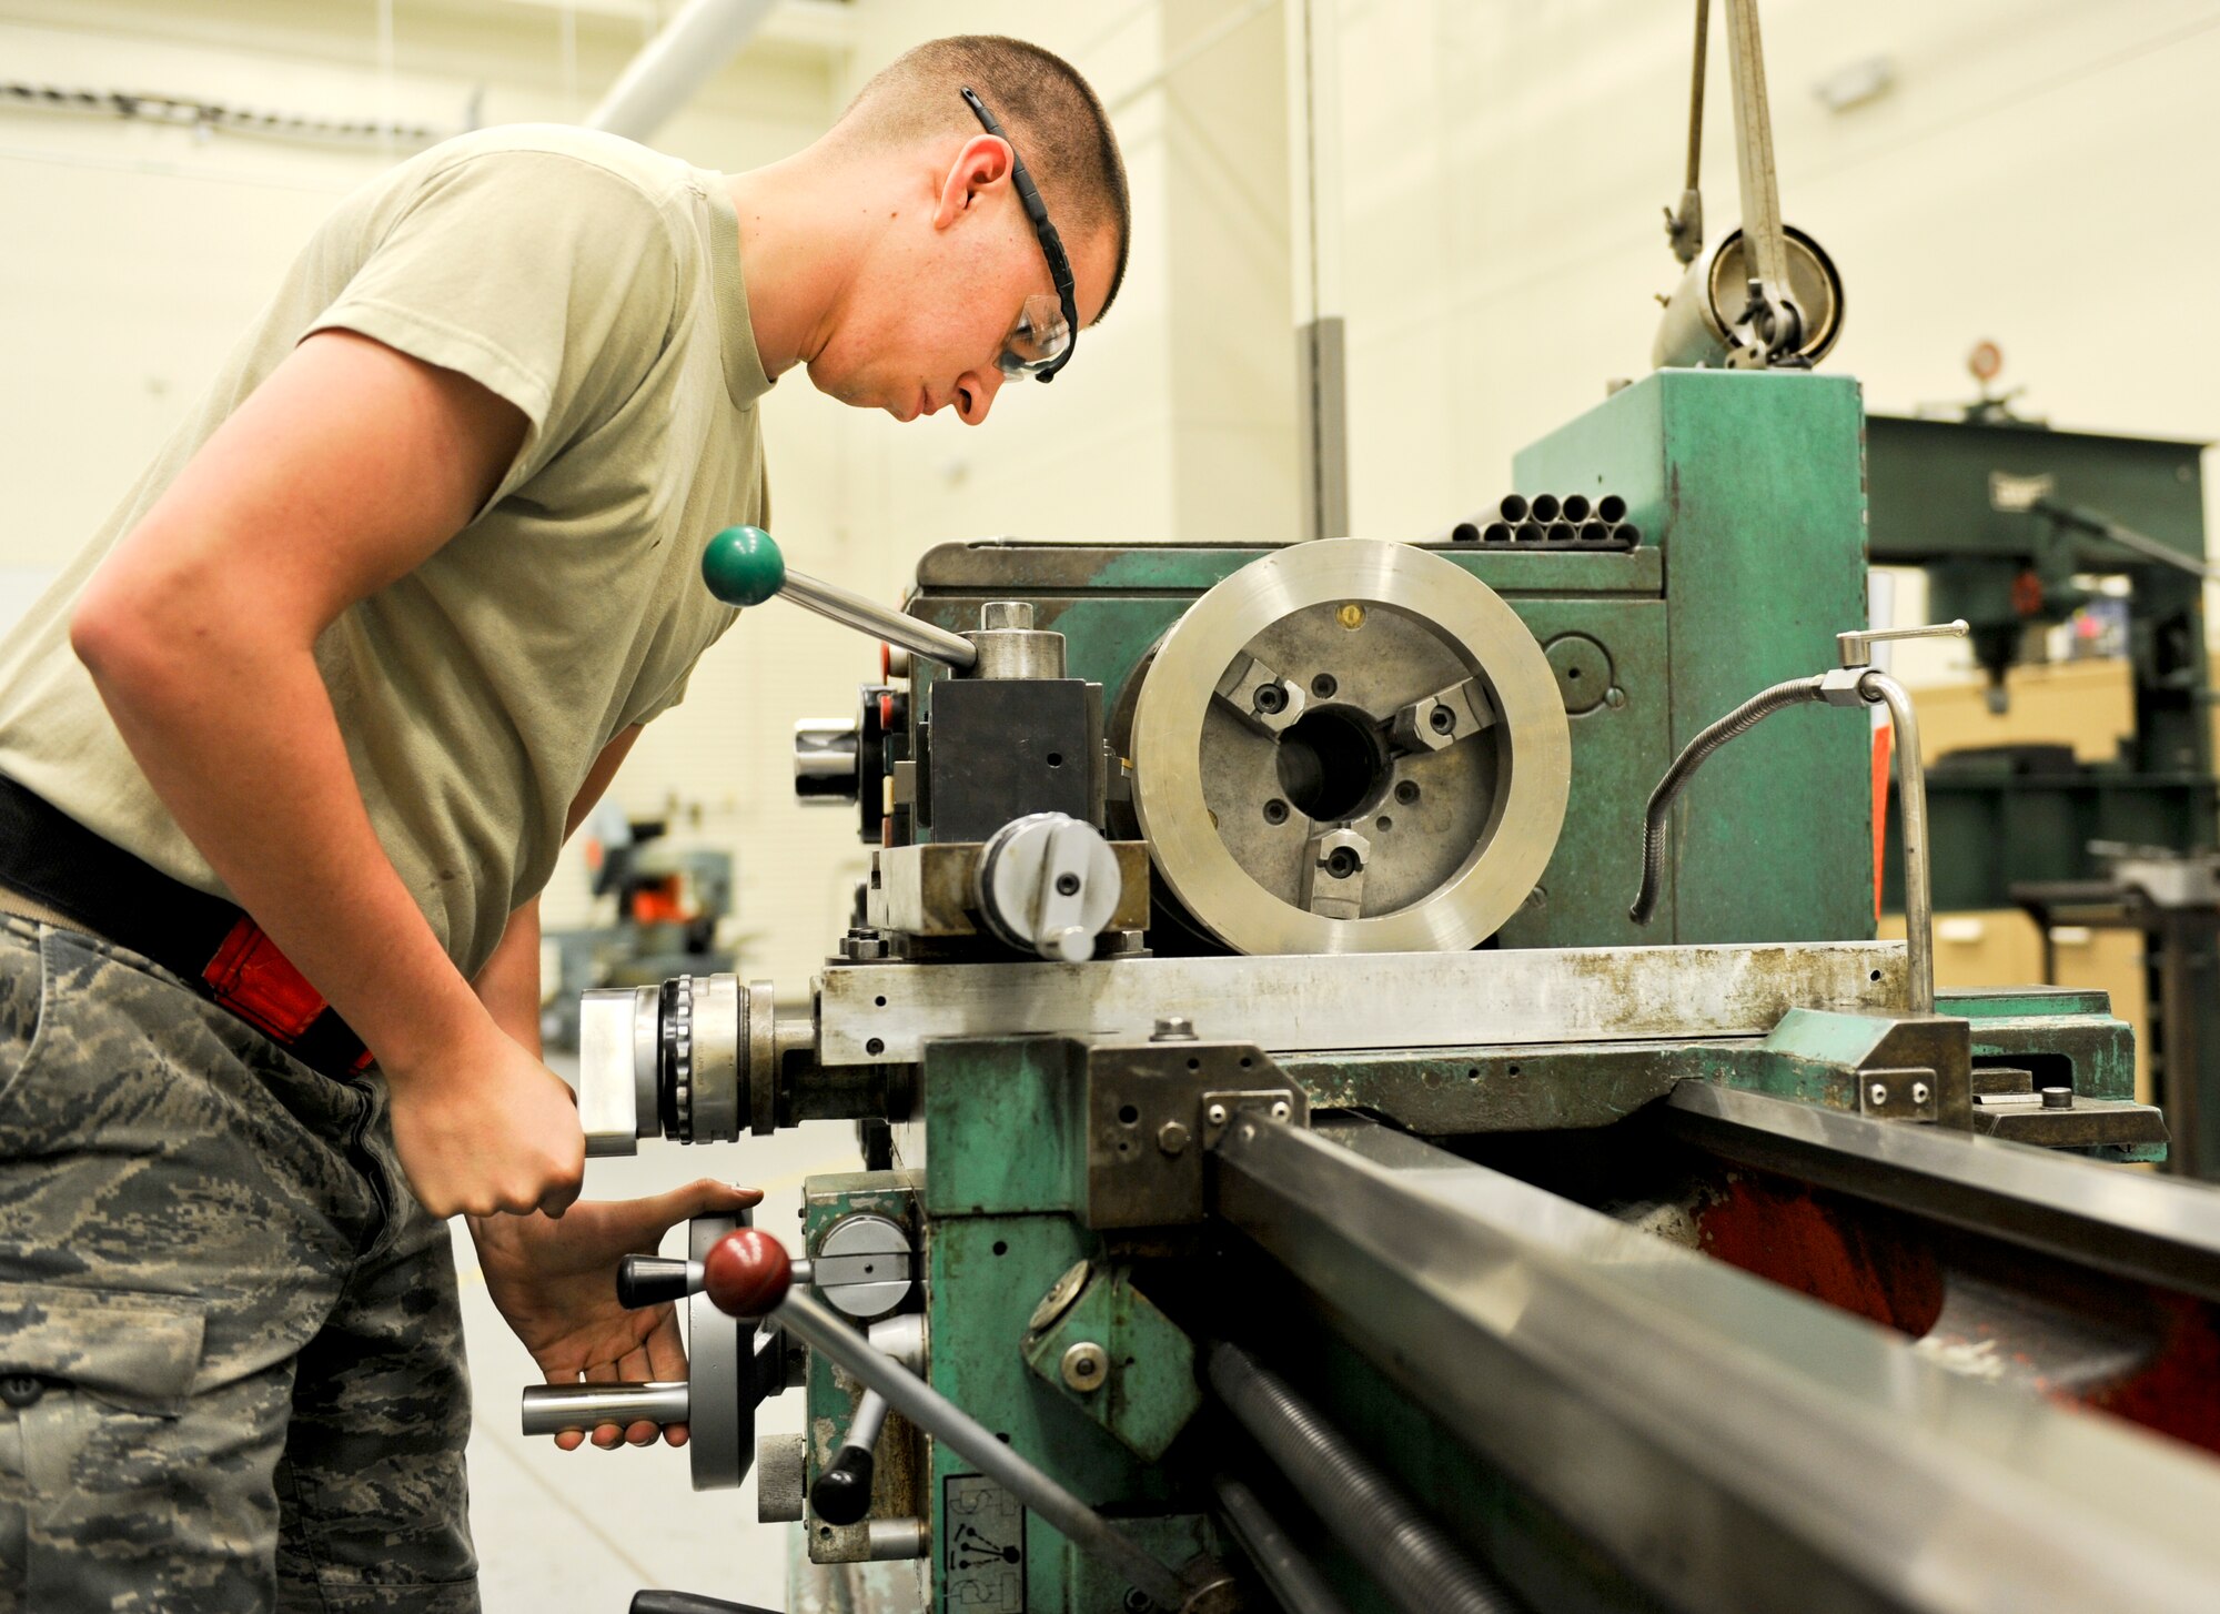
[[[468,1423],[382,1088],[0,917],[0,1614],[475,1614]]]

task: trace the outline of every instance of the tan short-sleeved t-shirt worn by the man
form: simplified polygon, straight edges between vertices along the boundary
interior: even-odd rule
[[[764,519],[770,389],[713,173],[559,127],[448,140],[355,193],[153,466],[0,642],[0,773],[229,897],[155,797],[84,666],[87,577],[313,331],[462,371],[531,428],[491,504],[317,639],[377,837],[466,972],[546,884],[602,748],[675,706],[733,624],[702,546]],[[244,733],[253,690],[238,690]]]

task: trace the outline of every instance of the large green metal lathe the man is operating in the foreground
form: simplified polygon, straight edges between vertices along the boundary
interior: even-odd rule
[[[579,1110],[864,1170],[635,1261],[688,1383],[528,1428],[753,1459],[790,1614],[2202,1607],[2220,1203],[2100,1163],[2164,1152],[2102,995],[1874,939],[1860,444],[1669,371],[1532,535],[955,544],[901,615],[722,535],[897,646],[797,733],[872,872],[806,990],[588,995]]]

